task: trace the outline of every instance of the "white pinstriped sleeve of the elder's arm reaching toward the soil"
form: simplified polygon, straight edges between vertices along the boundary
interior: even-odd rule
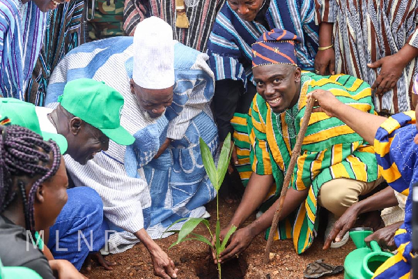
[[[125,146],[109,142],[109,153],[125,153]],[[107,152],[96,154],[86,165],[65,156],[65,165],[75,186],[88,186],[98,192],[103,201],[104,216],[111,223],[132,234],[144,228],[142,209],[151,205],[148,185],[144,179],[132,178],[125,172],[123,162]]]

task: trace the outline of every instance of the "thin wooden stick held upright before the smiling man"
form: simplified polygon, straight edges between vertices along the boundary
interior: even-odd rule
[[[299,133],[297,134],[296,144],[292,151],[291,163],[288,165],[286,176],[284,176],[284,182],[283,182],[283,186],[281,187],[281,193],[280,193],[280,198],[279,198],[279,205],[277,206],[276,211],[274,212],[273,223],[270,228],[270,234],[268,235],[267,245],[265,246],[265,252],[264,252],[265,264],[268,264],[270,262],[269,256],[270,256],[270,249],[272,247],[273,237],[277,230],[277,225],[279,223],[281,209],[283,208],[283,204],[284,204],[284,198],[286,197],[288,186],[291,183],[293,169],[295,168],[297,157],[299,157],[300,155],[300,149],[302,148],[304,134],[307,133],[308,123],[309,123],[309,119],[311,118],[311,112],[312,112],[312,109],[314,108],[314,103],[315,103],[314,98],[309,98],[308,103],[306,105],[306,110],[303,116],[302,125],[300,126]]]

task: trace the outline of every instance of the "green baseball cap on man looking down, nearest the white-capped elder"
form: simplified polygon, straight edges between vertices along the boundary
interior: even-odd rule
[[[104,84],[91,79],[72,80],[65,84],[58,102],[68,112],[79,117],[117,144],[133,144],[135,138],[121,126],[123,96]]]

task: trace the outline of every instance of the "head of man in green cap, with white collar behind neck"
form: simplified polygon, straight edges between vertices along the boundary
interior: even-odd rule
[[[37,107],[40,126],[63,135],[68,142],[67,153],[81,165],[109,147],[109,139],[130,145],[134,137],[121,126],[123,96],[91,79],[72,80],[65,85],[55,110]]]

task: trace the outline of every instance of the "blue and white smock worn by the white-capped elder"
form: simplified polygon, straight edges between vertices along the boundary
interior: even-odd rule
[[[210,110],[214,77],[208,56],[175,44],[173,103],[163,116],[150,119],[130,91],[132,57],[139,51],[132,43],[132,37],[116,37],[76,47],[54,70],[46,97],[52,106],[66,82],[88,77],[104,81],[125,98],[121,125],[134,135],[134,144],[125,147],[110,142],[109,149],[86,166],[65,158],[75,184],[94,188],[103,199],[104,216],[126,231],[112,234],[112,252],[137,242],[131,233],[142,227],[158,239],[179,218],[202,216],[203,205],[216,196],[199,147],[202,137],[215,156],[219,142]],[[166,138],[173,142],[153,159]]]

